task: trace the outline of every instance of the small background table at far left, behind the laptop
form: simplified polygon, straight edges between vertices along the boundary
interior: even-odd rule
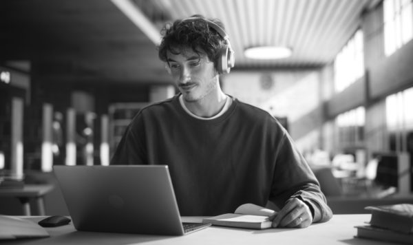
[[[43,196],[54,188],[53,184],[25,184],[23,188],[0,188],[0,198],[17,198],[22,204],[23,214],[31,215],[30,200],[37,204],[36,215],[45,215]]]

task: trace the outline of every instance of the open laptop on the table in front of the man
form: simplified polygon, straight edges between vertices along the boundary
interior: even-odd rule
[[[167,165],[54,166],[78,231],[185,235]]]

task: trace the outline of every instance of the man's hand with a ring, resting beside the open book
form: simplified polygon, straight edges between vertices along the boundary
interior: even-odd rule
[[[269,218],[273,227],[305,228],[313,223],[310,208],[298,198],[288,200],[284,207]]]

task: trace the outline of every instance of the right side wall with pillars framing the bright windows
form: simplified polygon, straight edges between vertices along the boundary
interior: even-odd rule
[[[382,4],[363,13],[361,29],[364,36],[364,76],[343,92],[329,94],[332,91],[333,79],[330,79],[328,70],[321,73],[321,81],[325,82],[322,91],[326,122],[320,141],[322,148],[330,153],[340,152],[342,149],[337,137],[335,117],[350,109],[364,106],[366,125],[363,147],[367,149],[370,158],[375,151],[389,150],[385,97],[413,86],[413,41],[406,43],[391,56],[385,56]]]

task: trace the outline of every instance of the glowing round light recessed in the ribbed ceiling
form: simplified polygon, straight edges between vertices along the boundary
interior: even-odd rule
[[[293,54],[293,50],[289,47],[282,46],[260,46],[260,47],[249,47],[244,50],[244,55],[247,58],[255,59],[277,59],[277,58],[287,58]]]

